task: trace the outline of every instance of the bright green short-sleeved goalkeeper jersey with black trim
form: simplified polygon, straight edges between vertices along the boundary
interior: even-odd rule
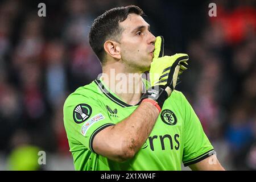
[[[181,170],[213,154],[199,118],[181,92],[164,102],[151,134],[133,159],[118,163],[93,150],[102,129],[129,117],[138,105],[129,105],[94,80],[69,95],[64,104],[64,126],[76,170]],[[138,121],[139,122],[139,121]]]

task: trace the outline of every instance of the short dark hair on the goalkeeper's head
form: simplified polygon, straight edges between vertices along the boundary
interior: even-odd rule
[[[105,63],[105,41],[107,39],[118,41],[121,38],[123,30],[119,26],[119,22],[123,22],[130,13],[143,15],[142,9],[138,6],[130,5],[115,7],[94,19],[89,32],[89,43],[102,65]]]

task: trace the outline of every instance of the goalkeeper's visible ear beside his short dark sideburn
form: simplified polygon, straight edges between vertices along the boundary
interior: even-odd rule
[[[106,53],[108,53],[111,57],[114,57],[114,59],[121,59],[121,52],[120,52],[120,46],[119,43],[107,40],[104,43],[104,49]]]

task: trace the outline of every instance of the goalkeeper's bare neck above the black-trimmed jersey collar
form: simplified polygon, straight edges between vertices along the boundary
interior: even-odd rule
[[[102,69],[102,80],[108,88],[129,105],[141,100],[141,72],[127,71],[123,64],[109,64]]]

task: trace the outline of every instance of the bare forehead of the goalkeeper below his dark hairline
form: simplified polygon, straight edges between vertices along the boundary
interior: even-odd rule
[[[131,13],[123,22],[120,23],[120,26],[123,27],[124,32],[131,32],[138,26],[147,27],[148,23],[142,18],[142,16]]]

